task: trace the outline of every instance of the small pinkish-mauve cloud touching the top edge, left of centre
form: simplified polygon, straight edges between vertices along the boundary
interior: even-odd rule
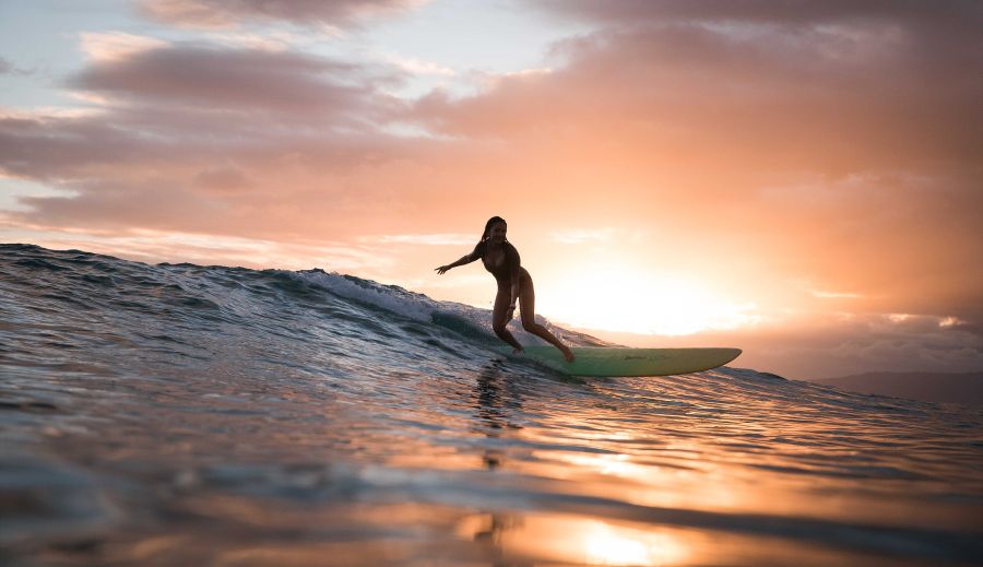
[[[223,28],[246,21],[351,26],[367,19],[398,14],[421,3],[421,0],[144,0],[141,10],[154,20],[183,27]]]

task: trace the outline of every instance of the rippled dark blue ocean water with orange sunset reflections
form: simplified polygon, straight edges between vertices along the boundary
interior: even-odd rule
[[[569,381],[497,357],[488,319],[0,246],[0,560],[983,563],[979,409],[739,368]]]

